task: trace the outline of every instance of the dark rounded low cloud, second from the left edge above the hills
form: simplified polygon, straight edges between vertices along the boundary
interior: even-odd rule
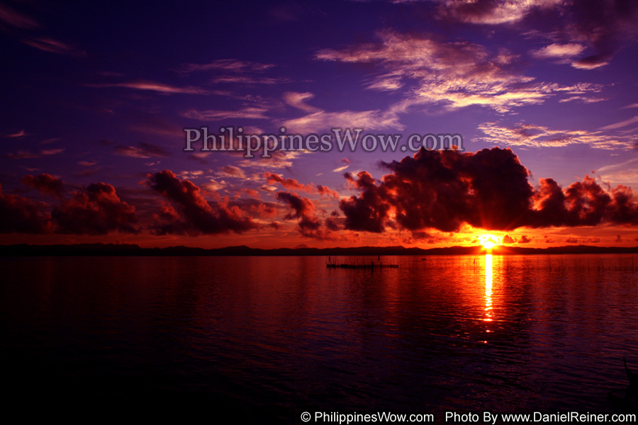
[[[121,200],[108,183],[91,183],[53,208],[55,232],[66,234],[137,233],[135,207]]]

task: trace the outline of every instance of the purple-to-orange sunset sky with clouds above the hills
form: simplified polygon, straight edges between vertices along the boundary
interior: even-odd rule
[[[0,244],[637,246],[637,40],[633,0],[2,1]]]

